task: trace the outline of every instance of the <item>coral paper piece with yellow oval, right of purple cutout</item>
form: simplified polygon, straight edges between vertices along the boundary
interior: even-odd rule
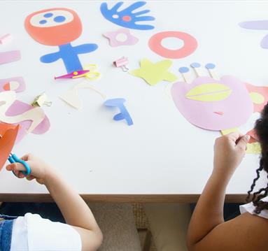
[[[260,113],[268,102],[268,87],[246,83],[246,89],[248,89],[249,96],[251,96],[251,100],[253,101],[254,111]]]

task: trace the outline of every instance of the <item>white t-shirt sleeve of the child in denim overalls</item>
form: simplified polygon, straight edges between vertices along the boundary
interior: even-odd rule
[[[68,224],[52,222],[27,213],[13,224],[10,251],[80,251],[78,231]]]

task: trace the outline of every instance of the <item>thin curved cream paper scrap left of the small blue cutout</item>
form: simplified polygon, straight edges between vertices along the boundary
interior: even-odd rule
[[[78,96],[78,89],[92,89],[94,92],[97,92],[103,99],[106,99],[106,96],[95,89],[92,85],[90,85],[87,81],[83,81],[82,83],[78,83],[68,91],[64,92],[59,96],[60,99],[68,103],[73,108],[81,109],[83,107],[82,101],[80,101]]]

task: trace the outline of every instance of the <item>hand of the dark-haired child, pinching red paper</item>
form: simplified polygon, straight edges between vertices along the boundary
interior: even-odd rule
[[[217,138],[214,145],[214,169],[232,176],[246,154],[246,144],[251,137],[233,132]]]

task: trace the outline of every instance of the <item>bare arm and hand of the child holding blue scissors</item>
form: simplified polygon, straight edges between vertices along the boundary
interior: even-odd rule
[[[31,167],[31,175],[27,179],[36,178],[37,182],[48,188],[66,223],[80,234],[83,250],[97,250],[101,245],[102,234],[85,201],[48,164],[32,155],[25,155],[22,159]],[[24,170],[22,164],[10,164],[6,169],[15,171],[19,178],[24,178],[24,175],[19,173]]]

